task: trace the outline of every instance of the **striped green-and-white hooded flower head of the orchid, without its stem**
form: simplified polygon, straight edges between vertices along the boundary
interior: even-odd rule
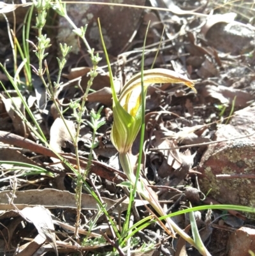
[[[155,68],[143,72],[144,90],[150,84],[184,83],[196,91],[193,82],[183,75],[163,68]],[[119,153],[128,153],[142,122],[141,102],[141,73],[133,76],[123,87],[119,98],[113,93],[113,127],[111,139]]]

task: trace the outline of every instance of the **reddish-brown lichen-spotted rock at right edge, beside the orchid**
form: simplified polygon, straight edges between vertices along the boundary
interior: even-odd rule
[[[214,140],[233,139],[210,144],[203,154],[198,171],[201,192],[221,204],[235,204],[253,207],[255,204],[255,107],[235,112],[230,124],[222,125],[215,133]],[[225,175],[219,178],[219,175]],[[233,176],[235,175],[235,176]],[[230,176],[226,178],[227,176]],[[232,177],[231,177],[232,176]],[[249,177],[249,178],[248,178]],[[249,215],[251,216],[251,215]]]

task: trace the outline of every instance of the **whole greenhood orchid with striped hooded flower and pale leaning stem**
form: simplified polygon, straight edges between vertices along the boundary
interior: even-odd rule
[[[103,49],[105,51],[106,61],[108,63],[108,70],[112,88],[114,119],[111,132],[112,143],[116,147],[117,151],[119,151],[120,163],[126,176],[129,179],[129,182],[133,186],[136,185],[136,191],[150,203],[150,205],[157,211],[159,215],[164,216],[166,215],[166,213],[159,204],[156,193],[148,186],[147,181],[140,177],[138,182],[136,182],[136,176],[133,173],[133,165],[131,163],[129,155],[129,149],[131,149],[131,146],[136,139],[136,136],[138,135],[138,132],[142,125],[141,80],[143,79],[144,93],[146,93],[147,87],[150,84],[157,83],[183,83],[196,92],[196,89],[194,88],[194,83],[177,72],[173,72],[171,70],[166,70],[163,68],[155,68],[152,70],[144,71],[143,78],[141,73],[134,75],[124,85],[118,97],[113,83],[112,70],[110,67],[110,61],[108,59],[105,43],[103,41],[100,24],[99,31],[101,35]],[[189,235],[187,235],[186,232],[180,229],[180,227],[178,227],[178,225],[175,224],[175,222],[173,222],[171,218],[166,218],[166,222],[168,223],[168,227],[170,229],[166,230],[168,234],[175,237],[175,232],[177,232],[182,238],[184,238],[187,242],[197,248],[202,255],[210,255],[210,253],[204,251],[204,248],[197,246],[195,241]]]

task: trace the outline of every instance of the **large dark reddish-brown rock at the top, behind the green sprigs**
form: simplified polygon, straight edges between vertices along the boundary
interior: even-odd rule
[[[96,4],[109,3],[107,5]],[[83,27],[87,24],[86,40],[93,48],[101,50],[101,40],[98,29],[98,18],[102,24],[103,36],[106,41],[106,47],[108,54],[117,56],[122,52],[123,47],[129,43],[129,39],[132,37],[134,31],[139,24],[142,16],[142,9],[140,8],[125,8],[123,6],[112,6],[112,3],[123,4],[135,4],[144,5],[145,0],[124,0],[121,2],[101,0],[96,1],[94,4],[79,4],[72,3],[67,4],[66,9],[69,18],[75,23],[77,27]],[[78,54],[73,56],[75,59],[80,59],[82,55],[80,52],[80,46],[78,46],[77,38],[73,33],[73,27],[69,24],[68,20],[64,17],[59,17],[59,26],[57,39],[59,42],[66,42],[68,45],[72,45],[72,52]],[[82,47],[82,52],[87,55],[87,49],[85,45]],[[71,56],[72,57],[72,56]],[[75,61],[72,59],[72,61]],[[89,59],[89,57],[88,57]],[[89,59],[90,61],[90,59]]]

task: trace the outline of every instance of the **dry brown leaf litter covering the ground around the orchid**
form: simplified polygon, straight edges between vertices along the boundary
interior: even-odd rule
[[[140,2],[144,4],[143,1]],[[251,154],[252,137],[254,137],[252,118],[254,115],[253,38],[255,29],[252,24],[253,20],[250,19],[254,16],[254,10],[252,4],[248,2],[247,5],[250,8],[246,9],[242,1],[237,1],[238,4],[220,2],[147,1],[148,6],[169,8],[171,12],[163,9],[138,11],[136,15],[140,18],[140,22],[136,24],[137,27],[132,26],[129,27],[130,31],[125,31],[125,33],[130,32],[129,40],[123,37],[121,45],[113,44],[110,49],[115,82],[120,88],[126,84],[129,77],[140,72],[141,42],[148,21],[151,20],[145,50],[146,70],[150,69],[154,62],[165,25],[161,48],[154,68],[168,68],[195,81],[197,94],[184,88],[182,84],[174,86],[173,84],[156,84],[150,86],[147,92],[143,176],[148,179],[149,186],[157,193],[159,202],[168,213],[189,207],[189,201],[193,202],[193,206],[201,203],[210,204],[210,202],[215,204],[217,201],[225,204],[245,205],[247,202],[249,204],[250,200],[253,202],[254,195],[249,194],[252,190],[252,179],[241,179],[238,183],[239,188],[247,186],[245,197],[249,200],[245,202],[244,196],[238,192],[233,193],[231,190],[224,189],[222,192],[221,190],[215,192],[217,177],[222,178],[233,174],[233,170],[226,170],[224,167],[231,167],[235,163],[233,169],[239,170],[238,173],[234,173],[235,177],[242,177],[243,174],[246,175],[245,177],[252,177],[255,161]],[[2,12],[15,10],[17,7],[17,5],[3,4]],[[123,8],[124,12],[125,10],[130,11],[130,8]],[[18,11],[15,13],[17,14]],[[128,17],[128,12],[125,15]],[[115,19],[120,22],[121,16]],[[94,28],[88,29],[87,33],[91,35]],[[121,27],[116,26],[116,29],[121,29]],[[105,36],[114,41],[116,34],[113,31],[114,26],[111,33]],[[4,34],[2,28],[0,32]],[[5,36],[7,38],[6,34]],[[3,45],[3,42],[0,42],[0,45],[3,46],[3,51],[5,49],[0,56],[1,63],[4,63],[8,53],[6,45]],[[96,50],[101,50],[98,43],[91,46]],[[82,48],[79,50],[84,52]],[[52,58],[56,57],[55,52],[51,54],[53,54]],[[86,57],[81,60],[80,56],[75,54],[69,56],[67,66],[71,69],[65,70],[67,75],[62,76],[64,86],[56,94],[59,106],[64,110],[64,117],[72,127],[71,130],[75,130],[75,119],[68,105],[71,100],[81,98],[86,89],[88,74],[91,70],[91,63],[86,60]],[[33,63],[35,59],[32,57],[31,61]],[[54,65],[54,62],[50,63],[51,70],[56,68]],[[9,64],[8,68],[10,67]],[[2,81],[5,85],[5,77]],[[32,95],[32,93],[24,93],[27,102],[31,96],[29,94]],[[61,119],[54,114],[52,102],[45,100],[45,92],[36,89],[36,97],[30,99],[33,102],[29,103],[29,106],[40,121],[40,125],[44,127],[45,136],[55,153],[52,149],[41,146],[31,134],[29,127],[13,112],[11,107],[13,102],[16,103],[18,109],[24,112],[15,93],[12,97],[13,102],[6,94],[1,95],[0,146],[3,152],[1,161],[10,161],[8,166],[2,162],[0,165],[1,252],[10,252],[10,255],[13,255],[15,250],[16,255],[43,255],[43,253],[50,252],[71,255],[70,253],[78,251],[90,252],[90,255],[100,255],[99,253],[103,255],[103,253],[112,252],[113,245],[110,246],[109,241],[98,240],[99,243],[96,244],[96,239],[99,237],[102,239],[99,229],[87,232],[94,216],[98,213],[98,207],[85,190],[82,195],[83,217],[79,235],[80,237],[94,237],[95,243],[92,243],[92,239],[89,240],[91,244],[79,245],[73,238],[73,224],[75,223],[73,220],[76,218],[75,211],[73,211],[76,208],[74,196],[76,182],[71,170],[64,163],[58,160],[59,165],[54,165],[52,160],[56,159],[55,153],[60,153],[73,165],[76,164],[76,160],[69,134],[67,135],[61,128],[64,127],[59,123]],[[94,184],[97,193],[101,195],[101,200],[106,203],[106,209],[111,218],[119,223],[119,229],[121,229],[128,200],[118,202],[124,195],[128,195],[128,191],[117,186],[126,179],[126,176],[120,169],[119,160],[115,156],[116,151],[110,142],[113,121],[112,93],[104,60],[99,67],[99,75],[94,80],[92,91],[87,96],[87,113],[84,119],[89,121],[88,113],[92,109],[98,110],[101,105],[104,105],[102,118],[106,123],[99,128],[96,134],[95,158],[88,181],[91,180]],[[233,117],[228,118],[232,115]],[[80,165],[85,169],[86,156],[89,154],[92,138],[91,129],[85,122],[81,135],[78,144],[81,155]],[[237,142],[233,140],[235,138],[239,138]],[[210,144],[217,140],[226,141]],[[135,142],[132,149],[134,154],[137,148]],[[233,161],[231,156],[226,154],[229,151],[237,156],[236,160]],[[4,154],[8,154],[8,159],[7,156],[4,157]],[[242,159],[239,159],[239,156],[242,156]],[[246,158],[248,160],[243,161]],[[134,163],[136,159],[135,156]],[[20,176],[25,172],[22,167],[11,169],[15,167],[15,164],[11,162],[17,161],[41,167],[51,175],[47,176],[47,172],[41,172],[32,176]],[[217,169],[217,172],[207,172],[208,168]],[[215,184],[212,181],[215,181]],[[224,179],[222,184],[222,188],[229,188],[230,184],[235,190],[237,188],[235,179],[231,179],[231,183]],[[212,192],[206,200],[202,200],[203,194],[207,194],[210,188],[213,188]],[[59,199],[59,195],[62,199]],[[235,195],[234,199],[230,195]],[[147,202],[139,198],[135,200],[133,211],[136,221],[150,215],[144,204]],[[200,233],[203,243],[207,244],[211,255],[227,255],[228,236],[226,234],[233,232],[230,223],[235,220],[224,222],[223,217],[219,218],[223,221],[224,231],[219,228],[220,225],[208,221],[209,218],[215,218],[217,221],[217,217],[222,214],[221,211],[212,211],[212,216],[205,216],[206,214],[206,212],[200,213]],[[231,218],[241,217],[245,222],[252,223],[251,216],[243,216],[237,212],[231,214],[234,216]],[[184,218],[179,220],[173,218],[173,220],[189,232],[187,220]],[[97,225],[108,234],[108,237],[112,238],[113,234],[108,229],[107,223]],[[235,229],[242,227],[244,223],[238,225],[235,225]],[[136,236],[140,239],[136,249],[142,246],[143,240],[154,243],[155,247],[151,255],[191,255],[194,253],[193,248],[184,243],[181,238],[172,241],[163,229],[154,224],[141,230]],[[27,239],[30,239],[29,242]],[[219,239],[220,245],[217,244]],[[134,252],[133,255],[138,254]]]

